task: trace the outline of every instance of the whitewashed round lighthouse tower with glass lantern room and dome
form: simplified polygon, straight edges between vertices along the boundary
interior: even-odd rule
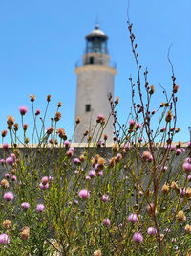
[[[75,143],[87,142],[84,133],[89,130],[90,135],[93,134],[99,114],[102,114],[106,121],[110,117],[103,134],[108,135],[109,143],[113,142],[113,117],[110,115],[109,95],[114,98],[117,70],[116,65],[111,64],[107,41],[108,36],[96,25],[95,30],[86,36],[85,54],[74,70],[77,75],[75,120],[78,116],[81,118],[81,123],[74,132]],[[96,140],[98,128],[97,126],[93,141]]]

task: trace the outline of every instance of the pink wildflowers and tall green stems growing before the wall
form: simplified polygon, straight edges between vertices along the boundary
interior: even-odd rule
[[[28,107],[19,107],[20,124],[8,116],[8,129],[1,133],[0,255],[191,255],[191,143],[187,150],[181,142],[173,144],[180,131],[179,86],[170,62],[172,90],[169,97],[165,91],[157,110],[151,109],[155,87],[147,81],[148,71],[141,73],[132,24],[129,32],[138,80],[135,85],[130,78],[133,106],[126,124],[117,121],[119,98],[110,98],[110,154],[103,153],[109,150],[101,114],[97,140],[94,131],[84,131],[87,144],[80,153],[59,128],[60,102],[46,128],[50,95],[43,114],[30,96],[31,139],[24,123]],[[153,130],[156,114],[159,124]],[[79,117],[76,127],[80,122]]]

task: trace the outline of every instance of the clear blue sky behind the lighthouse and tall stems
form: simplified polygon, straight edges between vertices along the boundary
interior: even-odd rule
[[[125,122],[131,106],[129,75],[136,79],[127,30],[127,0],[2,0],[0,4],[0,130],[6,117],[19,121],[18,107],[30,108],[29,95],[35,94],[36,108],[42,111],[46,95],[52,94],[50,116],[61,101],[62,121],[69,137],[74,129],[76,77],[75,62],[85,48],[84,37],[93,30],[96,17],[109,36],[109,51],[117,62],[115,95],[120,97],[118,117]],[[140,64],[149,69],[155,84],[155,103],[162,101],[159,82],[171,88],[167,51],[180,85],[176,140],[187,141],[191,125],[191,1],[131,0],[130,18],[137,35]],[[153,105],[156,106],[155,104]],[[32,113],[25,121],[30,124]]]

